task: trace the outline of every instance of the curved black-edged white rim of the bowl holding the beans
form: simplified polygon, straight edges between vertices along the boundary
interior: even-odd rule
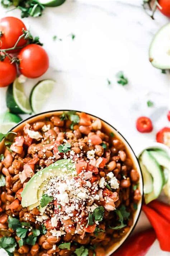
[[[107,256],[109,256],[109,255],[111,255],[112,253],[116,252],[116,251],[123,245],[123,243],[127,240],[127,238],[128,238],[130,235],[132,235],[132,232],[133,232],[134,228],[136,227],[136,225],[137,225],[137,223],[138,223],[138,220],[139,220],[139,217],[140,217],[140,215],[141,215],[142,204],[143,204],[143,202],[144,202],[144,194],[143,194],[143,175],[142,175],[140,163],[139,163],[139,160],[138,160],[138,155],[136,155],[136,154],[134,153],[134,151],[133,151],[131,145],[128,143],[128,141],[124,138],[124,136],[123,136],[113,125],[110,125],[110,123],[108,123],[107,121],[103,120],[102,118],[97,117],[97,116],[95,116],[94,114],[90,114],[90,113],[87,113],[87,112],[84,112],[84,111],[79,111],[79,110],[74,110],[74,109],[57,109],[57,110],[51,110],[51,111],[49,110],[49,111],[44,111],[44,112],[41,112],[41,113],[34,114],[34,115],[32,115],[32,116],[30,116],[30,117],[28,117],[28,118],[26,118],[26,119],[20,121],[19,123],[17,123],[17,124],[16,124],[12,129],[10,129],[9,131],[12,131],[13,129],[15,129],[16,127],[18,127],[18,125],[20,125],[20,124],[22,124],[22,123],[24,123],[24,122],[27,122],[28,120],[30,120],[30,119],[32,119],[32,118],[34,118],[34,117],[38,117],[38,116],[43,115],[43,114],[46,114],[46,113],[64,112],[64,111],[75,111],[75,112],[78,112],[78,113],[83,112],[83,113],[89,114],[90,116],[93,116],[93,117],[95,117],[95,118],[100,119],[101,121],[103,121],[104,123],[106,123],[107,125],[109,125],[110,127],[112,127],[115,131],[117,131],[117,133],[118,133],[120,136],[122,136],[122,138],[123,138],[123,139],[125,140],[125,142],[127,143],[128,147],[131,149],[131,151],[132,151],[132,153],[133,153],[133,155],[134,155],[134,158],[135,158],[136,161],[137,161],[138,169],[140,170],[141,181],[142,181],[142,184],[141,184],[141,188],[142,188],[142,199],[141,199],[141,203],[138,204],[138,206],[140,206],[140,210],[138,211],[138,215],[137,215],[137,217],[136,217],[136,221],[135,221],[135,223],[133,223],[133,227],[132,227],[131,231],[129,232],[129,234],[127,235],[126,239],[124,239],[124,241],[119,244],[119,246],[116,248],[115,251],[110,252],[109,254],[107,253]],[[2,142],[3,142],[3,140],[2,140]],[[120,242],[121,242],[121,240],[120,240]]]

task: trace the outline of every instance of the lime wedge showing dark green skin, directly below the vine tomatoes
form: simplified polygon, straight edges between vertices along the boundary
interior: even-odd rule
[[[10,111],[15,114],[30,114],[32,112],[29,100],[24,94],[24,86],[18,82],[18,79],[15,79],[13,84],[8,86],[6,104]]]

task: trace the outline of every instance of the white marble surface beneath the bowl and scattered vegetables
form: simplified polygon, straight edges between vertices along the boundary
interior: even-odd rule
[[[135,152],[155,141],[156,131],[168,125],[169,109],[169,75],[148,61],[152,37],[168,19],[157,11],[152,20],[141,4],[142,0],[67,0],[58,8],[46,8],[42,17],[23,19],[50,57],[50,68],[42,78],[56,80],[42,111],[76,109],[95,114],[116,127]],[[0,7],[0,17],[20,17],[18,10],[5,11]],[[70,33],[76,36],[73,41]],[[63,40],[53,41],[54,35]],[[117,84],[115,73],[120,70],[129,85]],[[27,80],[26,93],[41,79]],[[6,110],[5,91],[0,88],[1,112]],[[154,107],[148,108],[147,100],[152,100]],[[136,118],[143,115],[152,118],[154,131],[150,134],[138,133],[135,128]],[[147,225],[142,213],[136,230]],[[156,241],[147,253],[153,255],[168,253],[162,252]]]

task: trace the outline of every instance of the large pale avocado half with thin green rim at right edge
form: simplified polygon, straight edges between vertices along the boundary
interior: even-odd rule
[[[154,36],[149,49],[151,64],[160,69],[170,69],[170,23],[162,27]]]

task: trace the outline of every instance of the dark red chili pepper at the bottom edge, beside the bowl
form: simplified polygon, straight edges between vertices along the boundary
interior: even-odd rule
[[[113,253],[113,256],[144,256],[154,243],[156,234],[153,229],[135,234]]]

